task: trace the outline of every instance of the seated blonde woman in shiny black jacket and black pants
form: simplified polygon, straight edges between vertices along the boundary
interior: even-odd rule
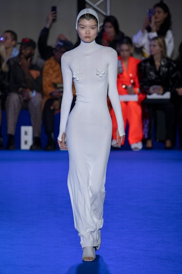
[[[173,93],[178,81],[176,64],[166,57],[166,47],[163,37],[155,37],[150,42],[150,57],[139,63],[139,81],[141,90],[146,94]],[[170,100],[161,103],[150,103],[148,109],[148,133],[146,148],[152,148],[152,121],[157,110],[165,113],[165,148],[172,148],[175,112]]]

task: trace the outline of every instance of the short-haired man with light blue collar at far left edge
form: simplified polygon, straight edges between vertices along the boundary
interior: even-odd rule
[[[9,58],[18,56],[19,50],[16,48],[17,34],[13,30],[6,30],[0,38],[6,50],[6,61]]]

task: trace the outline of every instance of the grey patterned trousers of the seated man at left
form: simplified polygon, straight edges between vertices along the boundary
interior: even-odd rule
[[[36,95],[28,102],[23,100],[21,94],[10,92],[6,98],[5,110],[7,119],[7,133],[15,135],[18,116],[21,108],[27,108],[30,112],[31,124],[33,127],[33,136],[40,137],[42,123],[42,95],[36,92]]]

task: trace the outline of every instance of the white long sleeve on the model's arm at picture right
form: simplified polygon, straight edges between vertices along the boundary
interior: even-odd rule
[[[110,63],[108,68],[109,75],[109,89],[108,96],[113,107],[114,113],[116,115],[119,135],[125,135],[123,115],[121,110],[121,104],[119,100],[118,90],[117,90],[117,52],[113,50],[110,54]]]

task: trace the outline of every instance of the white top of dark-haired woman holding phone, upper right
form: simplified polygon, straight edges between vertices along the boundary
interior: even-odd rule
[[[139,32],[137,32],[137,34],[133,36],[133,43],[136,47],[143,47],[144,55],[147,57],[150,55],[150,39],[157,36],[157,32],[148,32],[146,29],[144,30],[144,32],[142,32],[142,30],[139,30]],[[174,49],[174,38],[170,29],[166,32],[164,39],[166,44],[167,56],[170,58]]]

